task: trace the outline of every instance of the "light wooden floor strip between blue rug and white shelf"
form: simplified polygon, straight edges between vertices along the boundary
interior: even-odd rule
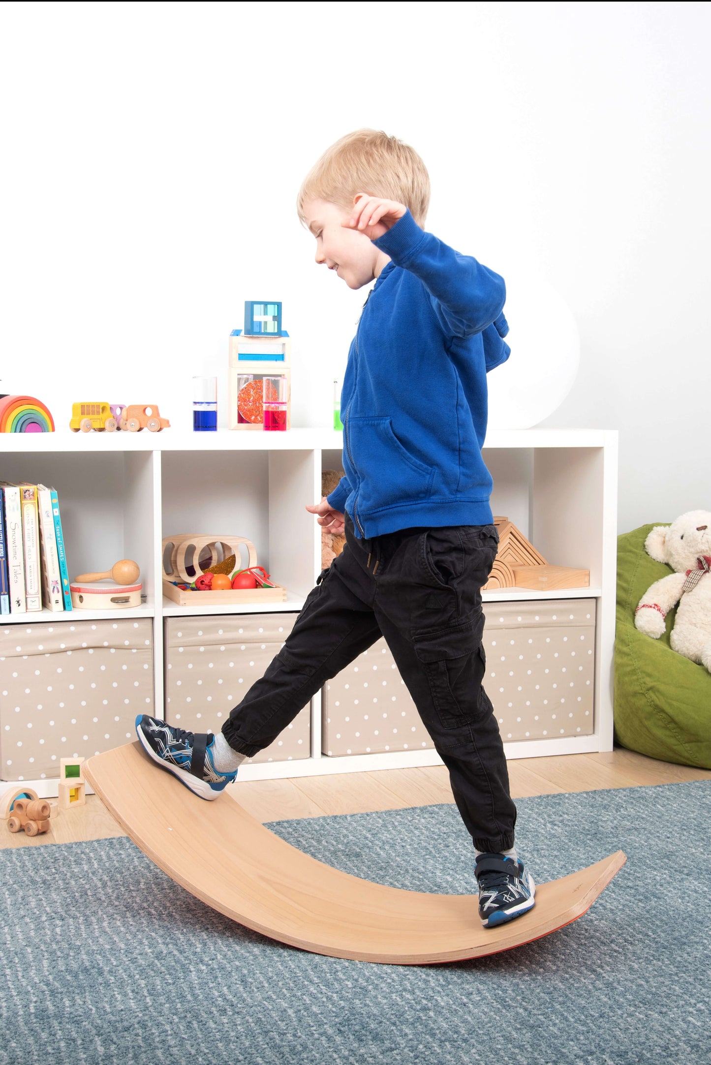
[[[657,761],[633,751],[615,748],[600,754],[517,758],[508,763],[508,777],[512,797],[521,799],[563,791],[710,780],[711,771]],[[245,782],[231,785],[230,790],[237,801],[262,822],[454,802],[449,773],[443,766]],[[62,812],[52,820],[46,835],[29,837],[23,832],[12,834],[6,822],[0,821],[0,849],[46,847],[123,835],[97,796],[87,796],[85,806]]]

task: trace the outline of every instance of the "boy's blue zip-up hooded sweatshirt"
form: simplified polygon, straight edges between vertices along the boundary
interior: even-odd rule
[[[387,256],[351,343],[343,470],[328,495],[355,534],[489,525],[486,374],[511,348],[503,278],[425,233],[409,211],[373,242]]]

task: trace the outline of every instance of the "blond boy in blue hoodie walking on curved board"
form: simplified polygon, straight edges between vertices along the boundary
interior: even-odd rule
[[[147,753],[204,799],[271,743],[330,677],[385,636],[472,836],[487,928],[534,905],[516,806],[482,679],[481,588],[499,537],[481,455],[486,373],[508,358],[504,282],[424,232],[427,171],[407,145],[359,130],[305,179],[316,260],[351,289],[374,278],[343,380],[343,468],[307,510],[346,543],[264,676],[219,736],[136,719]]]

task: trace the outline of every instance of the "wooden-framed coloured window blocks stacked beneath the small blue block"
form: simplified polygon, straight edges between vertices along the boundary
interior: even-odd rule
[[[264,377],[287,379],[287,429],[291,428],[291,341],[289,333],[246,337],[235,329],[229,337],[227,424],[230,429],[260,429]]]

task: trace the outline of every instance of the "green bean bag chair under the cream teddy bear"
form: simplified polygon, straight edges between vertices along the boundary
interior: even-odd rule
[[[617,537],[615,740],[630,751],[711,769],[711,673],[672,650],[676,608],[658,640],[634,627],[634,608],[655,580],[674,570],[644,548],[653,522]]]

